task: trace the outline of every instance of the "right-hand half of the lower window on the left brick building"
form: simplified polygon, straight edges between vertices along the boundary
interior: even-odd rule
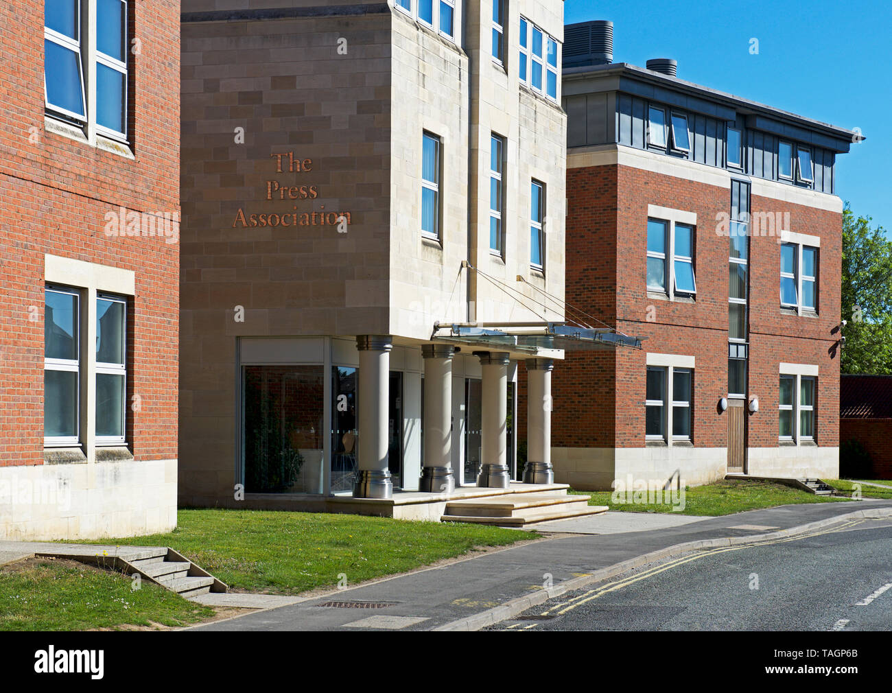
[[[97,295],[95,325],[96,444],[120,445],[127,404],[127,300]]]

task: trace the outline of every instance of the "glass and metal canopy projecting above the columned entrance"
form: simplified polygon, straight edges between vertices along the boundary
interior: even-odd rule
[[[565,323],[434,323],[433,342],[477,347],[480,351],[521,351],[533,356],[542,350],[607,351],[641,348],[641,337],[611,327],[578,327]]]

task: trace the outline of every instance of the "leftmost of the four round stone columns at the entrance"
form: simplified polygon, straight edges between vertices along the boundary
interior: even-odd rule
[[[390,392],[390,334],[360,334],[359,458],[353,498],[389,499],[393,483],[387,465],[387,416]]]

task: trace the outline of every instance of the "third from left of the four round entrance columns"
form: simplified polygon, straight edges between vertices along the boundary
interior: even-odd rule
[[[478,351],[475,354],[480,357],[483,367],[483,469],[477,478],[477,485],[507,489],[511,482],[507,443],[508,354],[501,351]]]

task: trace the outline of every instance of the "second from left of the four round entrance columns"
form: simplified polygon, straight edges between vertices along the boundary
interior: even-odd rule
[[[423,344],[425,358],[425,466],[419,491],[451,493],[452,475],[452,356],[451,344]]]

